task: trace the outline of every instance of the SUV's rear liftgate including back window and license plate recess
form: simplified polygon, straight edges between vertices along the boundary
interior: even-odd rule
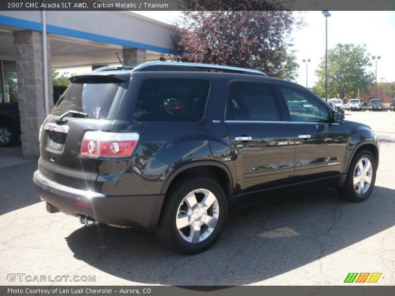
[[[127,88],[127,77],[130,78],[130,74],[124,80],[109,74],[74,79],[43,123],[39,159],[41,174],[62,185],[94,190],[98,175],[97,159],[80,155],[82,138],[86,131],[111,130]],[[72,116],[67,114],[68,111],[83,112],[87,116]]]

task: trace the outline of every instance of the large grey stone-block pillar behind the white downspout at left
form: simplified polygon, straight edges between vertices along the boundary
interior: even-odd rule
[[[16,74],[18,78],[18,102],[21,118],[21,140],[24,157],[39,157],[39,129],[44,114],[44,71],[42,59],[42,33],[38,31],[14,31]],[[47,37],[48,106],[53,108],[51,54]]]

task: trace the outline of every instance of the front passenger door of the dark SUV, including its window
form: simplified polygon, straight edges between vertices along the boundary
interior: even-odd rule
[[[341,174],[347,135],[331,123],[329,106],[302,89],[278,85],[295,135],[295,182]]]

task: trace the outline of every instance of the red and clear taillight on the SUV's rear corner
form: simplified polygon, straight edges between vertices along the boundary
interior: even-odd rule
[[[82,139],[81,155],[90,157],[131,156],[139,141],[137,133],[86,132]]]

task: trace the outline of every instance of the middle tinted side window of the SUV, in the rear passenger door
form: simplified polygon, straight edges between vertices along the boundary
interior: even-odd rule
[[[272,87],[267,83],[232,82],[227,109],[228,120],[281,120]]]

